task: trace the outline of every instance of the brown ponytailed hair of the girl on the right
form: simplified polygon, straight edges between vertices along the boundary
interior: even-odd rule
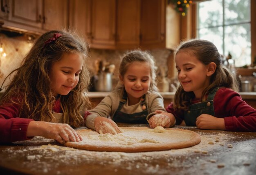
[[[221,56],[216,46],[207,40],[188,40],[182,42],[175,51],[175,56],[179,52],[185,52],[191,56],[195,56],[204,65],[213,62],[216,71],[211,75],[210,85],[202,92],[201,101],[206,101],[207,94],[214,88],[231,88],[238,91],[238,81],[233,73],[222,64]],[[195,98],[193,92],[185,92],[182,85],[179,86],[174,97],[175,110],[188,110],[191,99]]]

